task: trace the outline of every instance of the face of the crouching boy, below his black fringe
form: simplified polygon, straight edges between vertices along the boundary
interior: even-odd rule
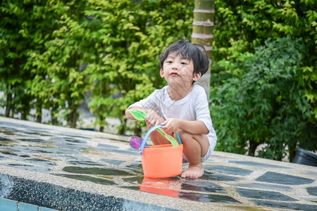
[[[166,79],[169,85],[191,86],[192,82],[197,81],[201,76],[200,73],[193,74],[193,72],[192,60],[187,60],[172,52],[164,61],[160,75]]]

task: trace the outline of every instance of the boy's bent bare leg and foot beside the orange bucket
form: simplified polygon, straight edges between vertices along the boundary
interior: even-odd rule
[[[189,162],[188,170],[182,172],[182,177],[199,178],[204,174],[201,158],[209,150],[209,140],[204,134],[192,135],[179,132],[182,139],[184,153]]]

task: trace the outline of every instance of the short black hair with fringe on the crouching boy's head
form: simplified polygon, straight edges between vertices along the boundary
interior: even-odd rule
[[[209,68],[209,58],[204,46],[191,44],[188,39],[176,41],[165,49],[159,56],[161,68],[163,68],[163,63],[170,53],[176,53],[176,55],[180,55],[182,58],[192,60],[194,74],[200,72],[202,76]]]

